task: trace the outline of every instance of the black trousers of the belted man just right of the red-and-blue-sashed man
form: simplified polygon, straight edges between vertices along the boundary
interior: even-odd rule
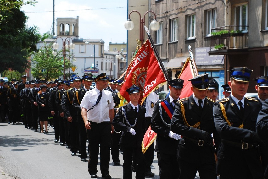
[[[180,168],[180,177],[179,179],[194,179],[196,172],[198,171],[200,179],[216,179],[216,163],[189,163],[184,160],[178,160]]]

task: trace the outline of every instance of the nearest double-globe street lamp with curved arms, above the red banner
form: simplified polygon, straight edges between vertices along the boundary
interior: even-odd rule
[[[141,44],[143,44],[143,41],[144,41],[144,24],[145,24],[145,15],[148,13],[148,12],[151,12],[154,14],[154,20],[150,23],[150,28],[152,30],[158,30],[160,28],[160,24],[159,22],[156,20],[156,15],[153,11],[147,11],[144,13],[144,16],[143,18],[141,17],[141,14],[134,10],[134,11],[131,11],[128,15],[128,19],[127,21],[125,22],[125,28],[126,30],[132,30],[134,28],[134,22],[130,19],[130,14],[132,12],[137,12],[139,15],[140,15],[140,41],[141,41]]]

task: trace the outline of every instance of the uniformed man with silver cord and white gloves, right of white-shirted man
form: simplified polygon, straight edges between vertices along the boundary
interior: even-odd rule
[[[113,119],[113,125],[122,131],[119,145],[123,151],[123,179],[132,178],[132,155],[137,159],[136,178],[145,178],[145,156],[142,153],[142,139],[146,132],[146,109],[139,105],[140,88],[136,85],[129,87],[126,92],[130,102],[118,109]]]

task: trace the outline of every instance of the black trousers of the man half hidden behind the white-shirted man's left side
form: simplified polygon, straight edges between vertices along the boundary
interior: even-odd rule
[[[79,134],[79,153],[80,158],[87,158],[86,143],[87,143],[87,129],[84,123],[77,123],[77,131]],[[89,149],[88,149],[89,151]]]

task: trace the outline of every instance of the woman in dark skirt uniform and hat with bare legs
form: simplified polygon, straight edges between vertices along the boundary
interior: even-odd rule
[[[38,119],[41,124],[41,133],[44,133],[44,123],[45,123],[45,133],[48,133],[47,126],[48,126],[48,117],[50,114],[48,108],[48,99],[49,99],[49,92],[46,92],[47,86],[42,84],[40,86],[41,91],[38,91],[36,96],[36,102],[38,103]]]

